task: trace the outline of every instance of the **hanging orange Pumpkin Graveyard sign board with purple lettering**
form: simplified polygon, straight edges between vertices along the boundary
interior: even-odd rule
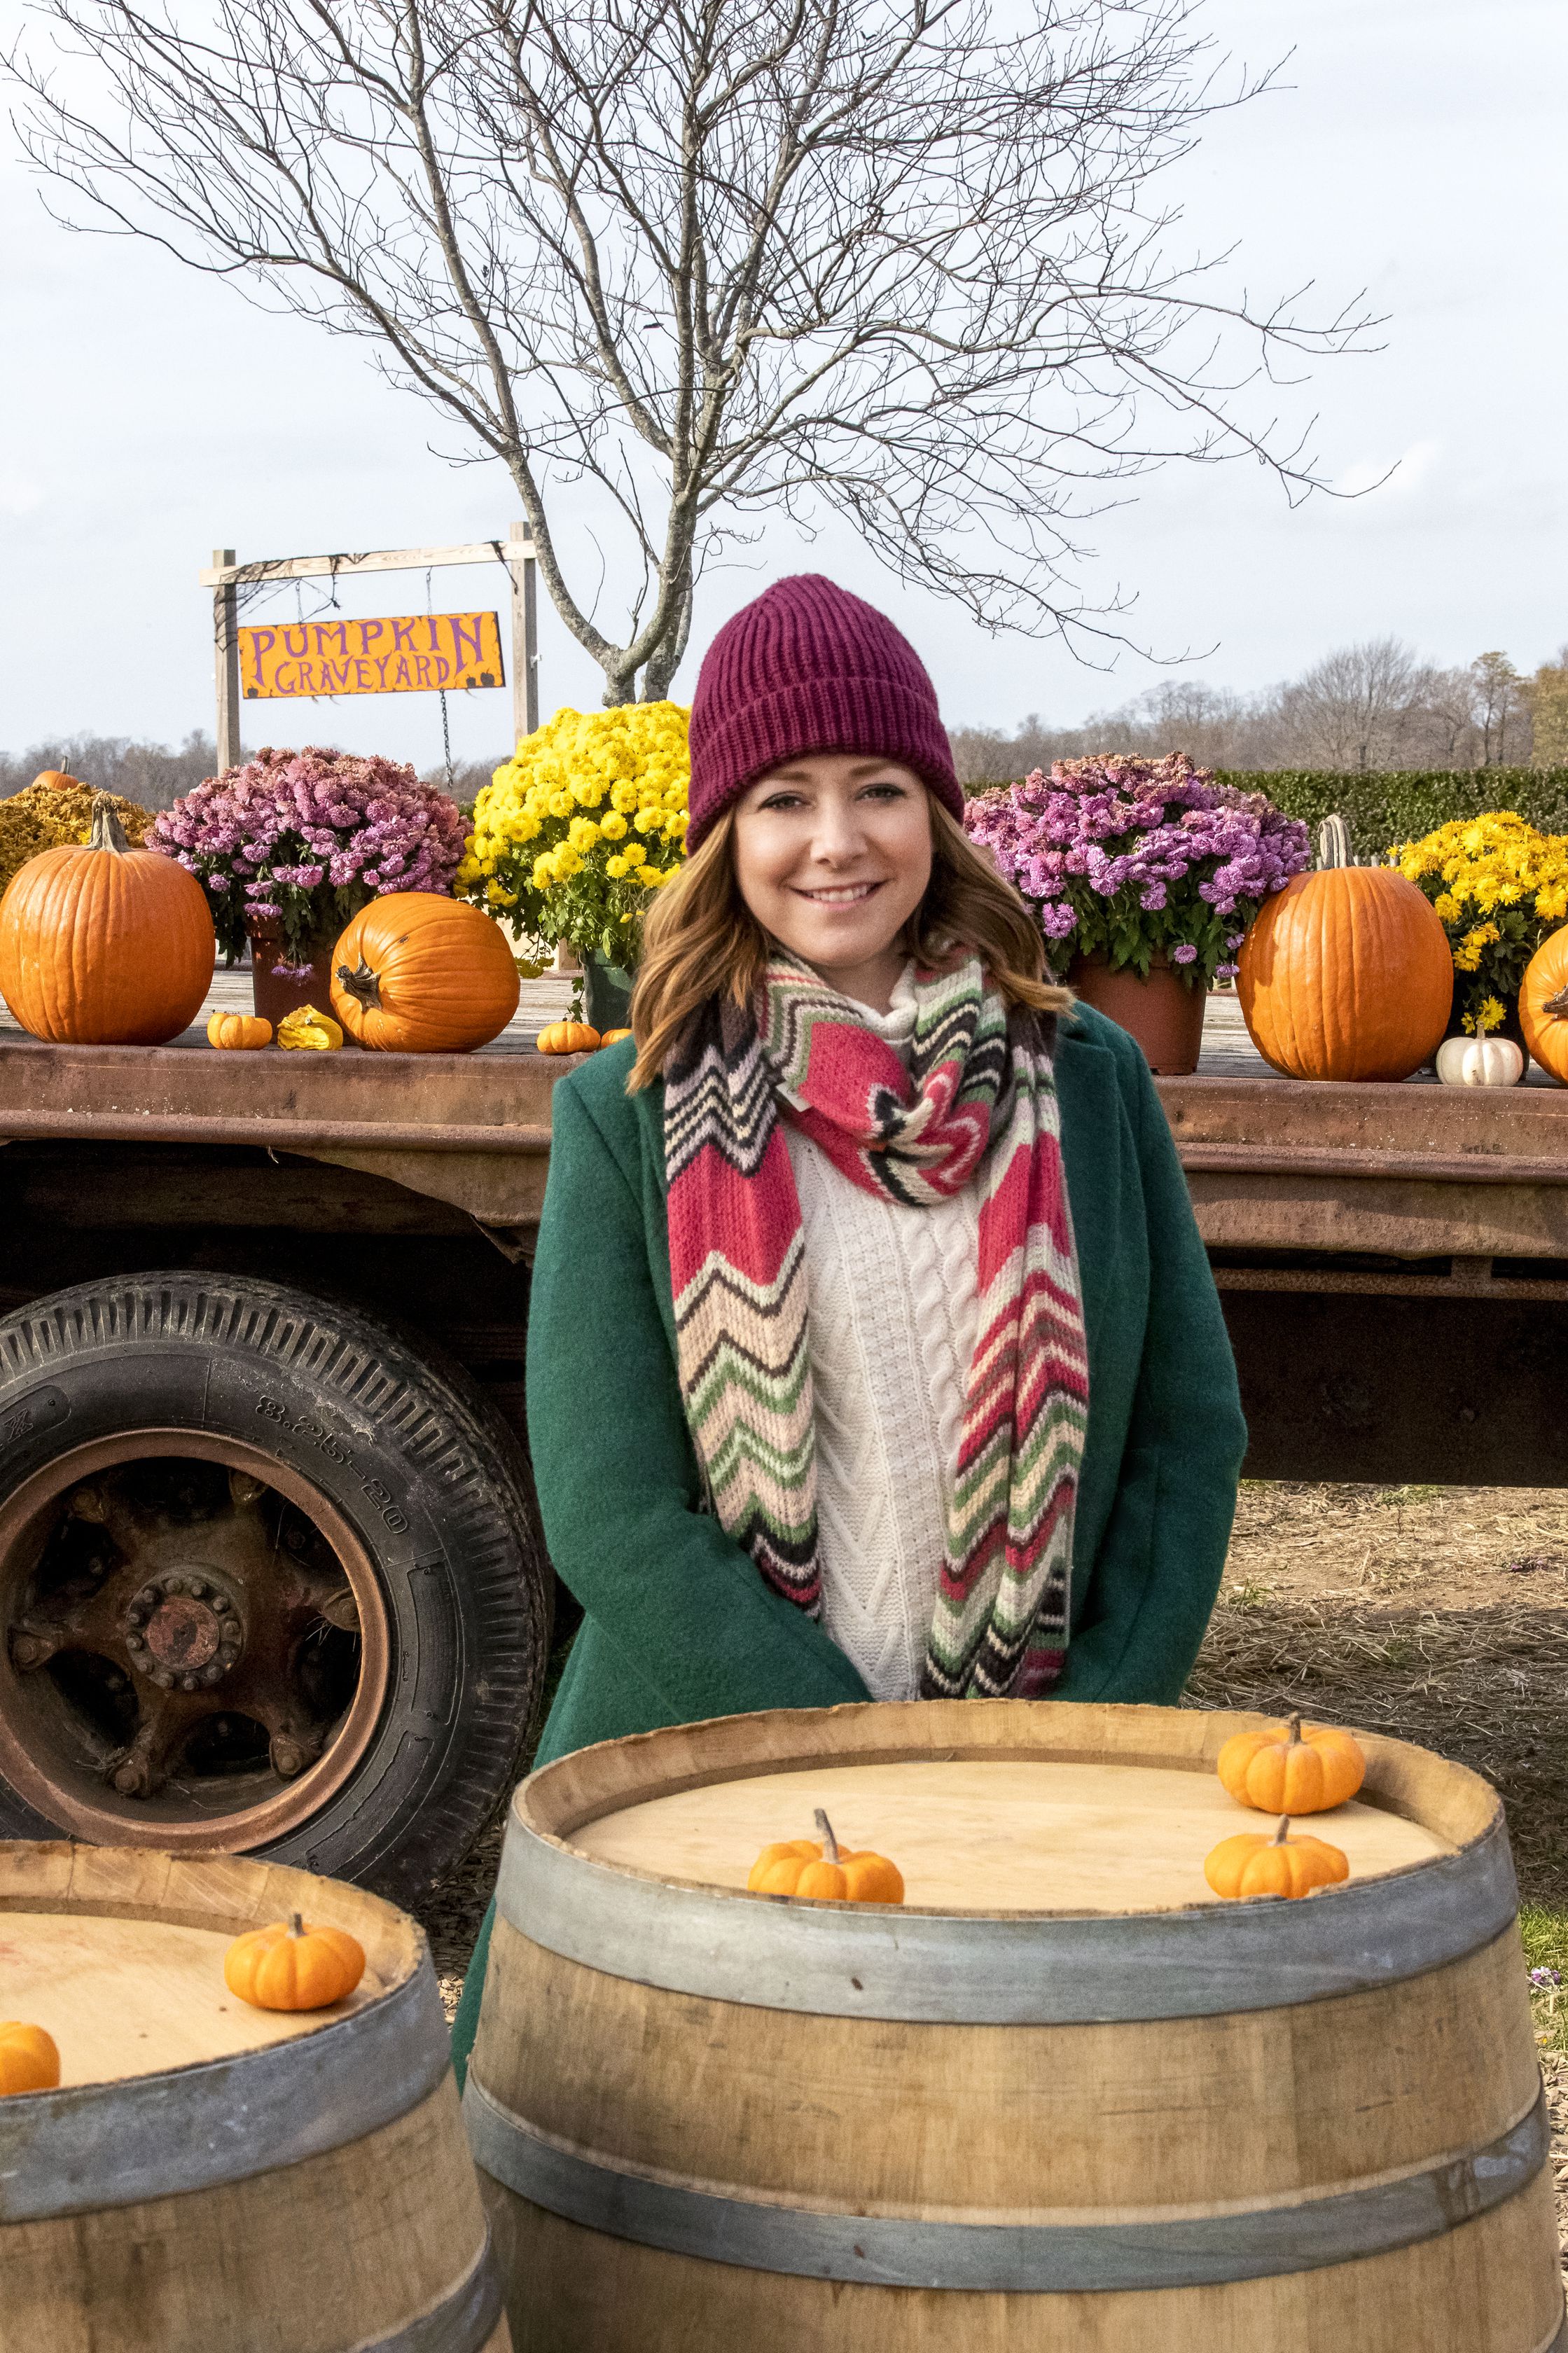
[[[247,701],[292,694],[433,694],[504,687],[492,612],[414,612],[386,621],[292,621],[240,631]]]

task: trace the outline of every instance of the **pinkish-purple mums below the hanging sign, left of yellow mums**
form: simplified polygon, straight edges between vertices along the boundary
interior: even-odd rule
[[[447,894],[464,814],[412,767],[306,744],[207,776],[165,809],[148,845],[202,885],[231,960],[261,929],[283,941],[275,969],[297,972],[313,944],[337,936],[372,899]]]

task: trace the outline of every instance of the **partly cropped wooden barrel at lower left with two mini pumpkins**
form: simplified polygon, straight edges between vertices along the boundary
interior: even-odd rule
[[[332,2009],[224,1986],[301,1911],[365,1946]],[[506,2353],[424,1932],[238,1857],[0,1845],[0,2014],[57,2092],[0,2099],[0,2353]]]

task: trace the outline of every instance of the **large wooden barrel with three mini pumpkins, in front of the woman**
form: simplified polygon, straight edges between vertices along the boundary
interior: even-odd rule
[[[1351,1878],[1224,1904],[1255,1722],[779,1711],[525,1781],[464,2094],[520,2353],[1568,2353],[1502,1807],[1368,1737]],[[815,1807],[902,1908],[744,1892]]]

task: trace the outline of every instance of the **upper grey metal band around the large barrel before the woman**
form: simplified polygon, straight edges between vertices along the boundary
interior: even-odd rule
[[[1307,1901],[986,1920],[791,1904],[614,1871],[513,1812],[497,1906],[607,1977],[756,2009],[942,2026],[1210,2019],[1363,1993],[1474,1953],[1519,1911],[1507,1831]]]

